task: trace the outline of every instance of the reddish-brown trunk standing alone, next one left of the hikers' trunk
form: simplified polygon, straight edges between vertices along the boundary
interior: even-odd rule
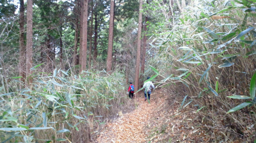
[[[112,67],[112,50],[113,50],[113,27],[114,27],[114,0],[110,2],[110,19],[109,19],[109,43],[107,57],[107,72],[110,73]]]

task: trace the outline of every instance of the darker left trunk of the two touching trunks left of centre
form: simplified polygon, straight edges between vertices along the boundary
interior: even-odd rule
[[[82,42],[83,42],[83,4],[84,4],[84,2],[83,2],[84,0],[80,0],[80,36],[79,36],[79,38],[80,38],[80,48],[79,48],[79,64],[81,65],[81,63],[82,63]]]

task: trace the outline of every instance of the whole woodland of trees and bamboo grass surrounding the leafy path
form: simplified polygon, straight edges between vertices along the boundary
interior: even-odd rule
[[[0,1],[2,143],[93,142],[148,76],[208,142],[256,142],[255,0]]]

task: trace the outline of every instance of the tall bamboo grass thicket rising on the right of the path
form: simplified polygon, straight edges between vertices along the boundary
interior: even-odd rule
[[[198,124],[209,133],[216,129],[229,132],[232,138],[242,136],[245,142],[254,141],[256,102],[251,94],[255,94],[252,91],[255,91],[256,31],[255,12],[250,7],[255,4],[248,1],[240,4],[218,1],[212,7],[204,4],[204,11],[191,8],[184,18],[176,17],[172,25],[175,28],[165,30],[161,24],[151,25],[151,29],[158,30],[149,34],[148,52],[154,58],[147,65],[156,71],[152,69],[146,74],[157,75],[156,88],[169,89],[167,95],[171,101],[178,99],[180,109],[186,107],[198,114]],[[239,100],[238,95],[246,96],[239,96]],[[219,141],[225,138],[223,134],[213,135]]]

